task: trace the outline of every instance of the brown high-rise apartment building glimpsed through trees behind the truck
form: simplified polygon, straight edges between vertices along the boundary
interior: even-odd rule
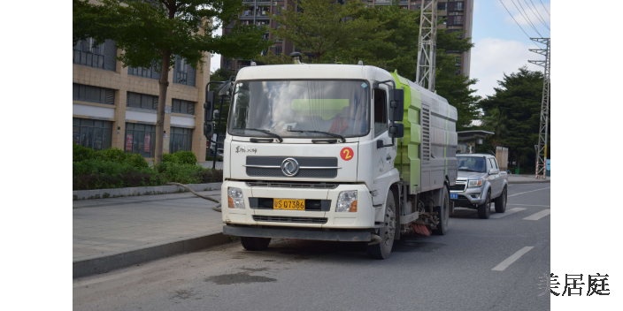
[[[342,3],[343,0],[337,0],[338,3]],[[374,5],[391,5],[392,0],[362,0],[361,2]],[[270,11],[273,14],[277,14],[278,8],[285,9],[289,4],[295,10],[297,9],[296,1],[282,1],[282,0],[242,0],[242,4],[245,4],[245,9],[239,16],[240,22],[244,24],[252,25],[269,25],[271,28],[277,27],[274,20],[270,19],[266,12]],[[405,10],[417,11],[422,5],[421,0],[401,0],[399,5]],[[437,0],[437,13],[438,19],[444,19],[443,24],[439,26],[439,31],[458,32],[465,31],[463,34],[465,37],[472,36],[472,17],[473,17],[473,0]],[[223,28],[223,34],[231,32],[234,23]],[[265,39],[269,39],[268,33],[263,34]],[[273,41],[274,38],[270,38]],[[270,48],[274,54],[286,54],[289,55],[296,50],[296,47],[291,42],[287,41],[275,41],[273,47]],[[267,52],[267,51],[263,51]],[[470,72],[470,52],[459,54],[458,51],[447,50],[446,53],[456,54],[457,60],[457,74],[464,73],[469,77]],[[243,59],[226,59],[221,57],[220,67],[239,71],[241,68],[250,65],[250,61]]]

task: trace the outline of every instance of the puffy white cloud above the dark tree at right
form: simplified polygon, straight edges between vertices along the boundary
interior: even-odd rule
[[[528,49],[536,49],[536,45],[527,45],[523,42],[496,38],[485,38],[475,42],[472,49],[470,78],[478,79],[473,87],[476,95],[483,98],[494,95],[494,87],[499,87],[498,80],[502,80],[504,73],[518,72],[519,67],[527,65],[528,69],[541,71],[542,67],[527,62],[528,59],[541,60],[542,56]]]

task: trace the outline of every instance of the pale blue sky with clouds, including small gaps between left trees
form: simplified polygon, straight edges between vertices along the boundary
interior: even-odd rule
[[[540,21],[542,18],[545,24],[551,27],[550,0],[502,1],[529,36],[550,37],[550,30],[543,26]],[[522,15],[524,12],[521,11],[522,8],[527,12],[527,15]],[[495,93],[493,87],[497,87],[496,81],[502,80],[504,72],[507,74],[517,72],[519,67],[523,65],[527,65],[531,70],[542,71],[542,67],[527,62],[528,59],[542,59],[542,56],[528,50],[537,48],[537,45],[521,31],[517,23],[511,19],[511,15],[504,9],[500,0],[474,1],[472,42],[475,43],[475,47],[472,49],[470,78],[479,80],[473,87],[478,90],[477,95],[483,97],[493,95]],[[541,35],[535,32],[528,24],[527,19],[533,22]],[[220,34],[220,29],[215,33]],[[214,55],[210,66],[211,71],[219,67],[220,56]]]

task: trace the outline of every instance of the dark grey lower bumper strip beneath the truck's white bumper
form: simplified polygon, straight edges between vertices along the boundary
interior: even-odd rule
[[[265,228],[224,225],[223,234],[235,237],[314,239],[342,242],[369,242],[371,232],[367,231],[322,231],[304,228]]]

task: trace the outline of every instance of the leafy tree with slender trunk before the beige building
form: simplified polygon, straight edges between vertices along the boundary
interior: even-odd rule
[[[239,11],[239,0],[73,0],[73,45],[93,38],[114,40],[124,54],[124,66],[154,66],[161,72],[156,122],[155,163],[162,162],[168,73],[172,57],[181,57],[193,68],[204,64],[204,52],[223,57],[252,57],[273,42],[261,39],[265,28],[237,24],[231,34],[212,36],[229,24]]]

